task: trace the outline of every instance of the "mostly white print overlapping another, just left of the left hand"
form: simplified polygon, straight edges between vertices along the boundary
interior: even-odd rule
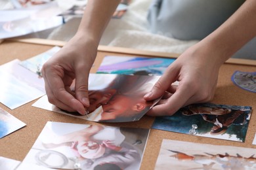
[[[42,95],[45,95],[43,78],[18,63],[14,59],[0,66],[0,102],[10,109],[16,109]]]

